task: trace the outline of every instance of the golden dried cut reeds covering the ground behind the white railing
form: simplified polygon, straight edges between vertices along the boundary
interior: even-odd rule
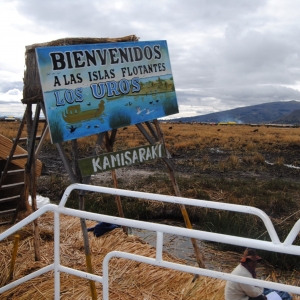
[[[95,222],[88,221],[88,226]],[[19,234],[21,236],[15,277],[24,275],[53,263],[53,215],[47,213],[39,219],[41,235],[41,262],[34,261],[34,245],[31,225],[26,226]],[[4,230],[2,228],[1,230]],[[112,250],[126,251],[155,257],[155,249],[135,236],[126,236],[121,229],[100,237],[89,236],[94,273],[102,275],[102,261]],[[0,286],[5,284],[9,272],[9,263],[13,248],[13,236],[0,243]],[[86,271],[84,247],[81,227],[78,218],[61,217],[61,263],[64,266]],[[231,255],[231,254],[230,254]],[[163,259],[170,262],[184,263],[182,260],[164,252]],[[215,259],[224,259],[215,253]],[[237,257],[230,257],[224,264]],[[114,258],[109,264],[110,299],[203,299],[224,300],[225,282],[218,279],[200,277],[192,283],[193,275],[164,268],[158,268],[142,263]],[[277,281],[276,273],[268,278]],[[296,284],[296,282],[290,282]],[[53,299],[53,272],[48,272],[27,283],[24,283],[2,295],[0,299]],[[96,283],[98,298],[102,299],[102,285]],[[61,274],[61,299],[90,299],[90,289],[87,280]],[[296,296],[293,299],[300,299]]]

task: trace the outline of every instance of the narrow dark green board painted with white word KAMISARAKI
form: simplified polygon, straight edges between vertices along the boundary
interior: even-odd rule
[[[78,160],[83,177],[165,157],[163,144],[146,145]]]

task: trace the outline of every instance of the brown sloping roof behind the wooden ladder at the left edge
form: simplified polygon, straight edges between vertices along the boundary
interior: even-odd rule
[[[7,156],[13,147],[13,142],[7,137],[0,134],[0,160],[6,160]],[[17,146],[15,155],[19,154],[27,154],[27,151]],[[17,159],[12,162],[14,165],[20,167],[21,169],[25,168],[25,164],[27,163],[27,158]],[[36,161],[36,174],[40,176],[42,172],[42,162],[37,159]]]

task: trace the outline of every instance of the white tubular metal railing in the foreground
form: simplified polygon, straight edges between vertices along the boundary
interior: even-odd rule
[[[221,209],[221,210],[253,214],[253,215],[258,216],[264,222],[266,229],[270,235],[271,241],[268,242],[268,241],[261,241],[261,240],[243,238],[243,237],[236,237],[236,236],[231,236],[231,235],[218,234],[218,233],[206,232],[206,231],[201,231],[201,230],[193,230],[193,229],[187,229],[187,228],[181,228],[181,227],[169,226],[169,225],[163,225],[163,224],[156,224],[156,223],[150,223],[150,222],[144,222],[144,221],[137,221],[137,220],[107,216],[107,215],[102,215],[102,214],[96,214],[96,213],[90,213],[90,212],[66,208],[65,207],[66,201],[67,201],[70,193],[75,189],[98,192],[98,193],[105,193],[105,194],[127,196],[127,197],[134,197],[134,198],[139,198],[139,199],[150,199],[150,200],[157,200],[157,201],[162,201],[162,202],[185,204],[185,205],[192,205],[192,206],[197,206],[197,207],[205,207],[205,208],[213,208],[213,209]],[[292,243],[294,242],[294,240],[300,230],[300,220],[298,220],[296,222],[296,224],[294,225],[294,227],[288,234],[285,241],[283,243],[281,243],[269,217],[263,211],[261,211],[260,209],[254,208],[254,207],[220,203],[220,202],[212,202],[212,201],[205,201],[205,200],[195,200],[195,199],[188,199],[188,198],[175,197],[175,196],[165,196],[165,195],[143,193],[143,192],[133,192],[133,191],[106,188],[106,187],[98,187],[98,186],[92,186],[92,185],[86,185],[86,184],[72,184],[65,190],[59,205],[47,204],[47,205],[43,206],[42,208],[38,209],[36,212],[31,214],[27,218],[23,219],[16,225],[12,226],[5,232],[1,233],[0,241],[5,239],[9,235],[13,234],[20,228],[24,227],[25,225],[31,223],[33,220],[40,217],[47,211],[52,211],[54,213],[54,263],[1,287],[0,294],[11,288],[18,286],[21,283],[24,283],[30,279],[40,276],[50,270],[54,270],[54,299],[58,300],[60,298],[60,275],[59,274],[60,274],[60,272],[65,272],[68,274],[72,274],[75,276],[79,276],[79,277],[82,277],[85,279],[94,280],[94,281],[102,283],[103,299],[107,300],[109,298],[108,266],[109,266],[109,260],[112,257],[122,257],[125,259],[135,260],[135,261],[139,261],[139,262],[143,262],[143,263],[147,263],[147,264],[151,264],[151,265],[155,265],[155,266],[160,266],[160,267],[164,267],[164,268],[179,270],[179,271],[183,271],[183,272],[194,273],[194,274],[198,274],[198,275],[209,276],[209,277],[219,278],[219,279],[223,279],[223,280],[236,281],[236,282],[245,283],[245,284],[253,284],[256,286],[260,286],[260,287],[277,289],[277,290],[287,291],[290,293],[300,294],[300,287],[285,285],[285,284],[280,284],[280,283],[274,283],[274,282],[269,282],[269,281],[264,281],[264,280],[258,280],[258,279],[245,278],[242,276],[202,269],[202,268],[198,268],[198,267],[192,267],[192,266],[178,264],[178,263],[171,263],[168,261],[164,261],[162,258],[163,234],[164,233],[175,234],[175,235],[179,235],[179,236],[186,236],[186,237],[190,237],[190,238],[196,238],[196,239],[213,241],[213,242],[221,242],[221,243],[226,243],[226,244],[239,245],[239,246],[244,246],[244,247],[264,249],[264,250],[279,252],[279,253],[300,255],[300,246],[292,245]],[[121,226],[156,231],[157,232],[156,257],[149,258],[149,257],[145,257],[145,256],[125,253],[125,252],[120,252],[120,251],[112,251],[112,252],[108,253],[103,260],[103,276],[98,276],[98,275],[94,275],[94,274],[90,274],[87,272],[83,272],[83,271],[65,267],[60,264],[60,247],[59,247],[60,246],[60,230],[59,230],[60,229],[60,223],[59,223],[59,215],[60,214],[95,220],[98,222],[107,222],[107,223],[117,224],[117,225],[121,225]]]

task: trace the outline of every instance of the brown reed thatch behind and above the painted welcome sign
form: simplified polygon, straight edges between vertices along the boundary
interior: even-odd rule
[[[35,56],[35,48],[50,47],[62,45],[79,45],[79,44],[99,44],[99,43],[116,43],[137,41],[135,35],[128,35],[120,38],[63,38],[47,43],[33,44],[26,46],[25,51],[25,72],[23,87],[23,104],[33,104],[43,100],[42,88],[38,72],[38,66]]]

